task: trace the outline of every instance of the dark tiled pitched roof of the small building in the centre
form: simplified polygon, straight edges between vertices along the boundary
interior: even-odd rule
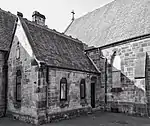
[[[39,61],[49,66],[98,73],[85,55],[82,42],[26,19],[20,20]]]

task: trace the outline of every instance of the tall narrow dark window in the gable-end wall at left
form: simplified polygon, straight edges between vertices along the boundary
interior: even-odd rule
[[[16,72],[16,101],[21,102],[21,70]]]

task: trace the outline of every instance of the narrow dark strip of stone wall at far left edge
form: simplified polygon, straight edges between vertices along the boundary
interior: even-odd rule
[[[6,52],[0,51],[0,117],[3,116],[5,112],[5,54]]]

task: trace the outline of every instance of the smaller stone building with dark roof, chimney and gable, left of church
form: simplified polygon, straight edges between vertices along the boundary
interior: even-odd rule
[[[83,43],[32,18],[0,10],[1,116],[43,124],[98,107],[100,72]]]

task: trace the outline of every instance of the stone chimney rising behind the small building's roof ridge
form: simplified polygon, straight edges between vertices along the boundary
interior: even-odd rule
[[[45,16],[43,14],[40,14],[38,11],[34,11],[32,14],[32,21],[36,24],[45,25]]]

